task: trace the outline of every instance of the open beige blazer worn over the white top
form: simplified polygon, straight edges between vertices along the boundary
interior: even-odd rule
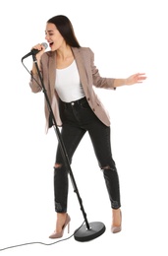
[[[89,106],[95,115],[105,125],[110,126],[110,118],[108,112],[105,110],[102,102],[93,91],[93,86],[96,88],[115,89],[113,87],[113,78],[102,78],[99,75],[98,69],[94,66],[94,54],[88,47],[75,48],[72,47],[74,57],[77,63],[81,83],[84,88],[84,94]],[[46,89],[47,96],[54,113],[54,117],[58,126],[62,126],[62,121],[59,113],[59,97],[55,90],[56,81],[56,52],[46,51],[40,60],[40,70],[43,79],[43,84]],[[40,84],[38,75],[33,75],[33,78]],[[30,79],[29,86],[33,93],[41,92],[41,87]],[[45,118],[46,118],[46,132],[49,128],[49,110],[45,100],[44,104]]]

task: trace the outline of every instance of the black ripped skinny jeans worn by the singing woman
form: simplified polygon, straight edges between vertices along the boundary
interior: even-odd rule
[[[111,153],[110,127],[104,125],[96,117],[85,97],[71,103],[60,100],[60,113],[63,121],[61,135],[70,163],[72,163],[73,155],[87,131],[99,167],[103,170],[111,208],[120,208],[119,178]],[[55,211],[66,213],[69,180],[60,145],[58,145],[55,163],[59,164],[59,167],[54,168]]]

